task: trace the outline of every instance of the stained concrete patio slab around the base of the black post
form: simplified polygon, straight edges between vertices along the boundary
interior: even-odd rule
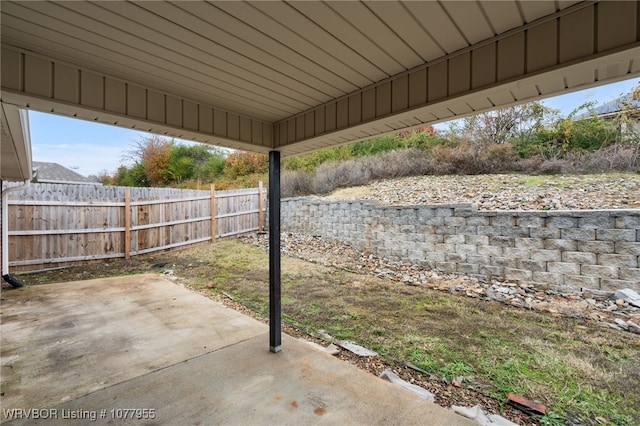
[[[161,276],[2,296],[11,424],[473,424]]]

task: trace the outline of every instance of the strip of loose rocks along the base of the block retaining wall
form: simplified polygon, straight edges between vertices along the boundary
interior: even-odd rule
[[[243,237],[250,243],[265,250],[268,249],[267,235]],[[297,233],[283,233],[281,238],[283,254],[305,259],[310,262],[329,265],[350,272],[370,274],[379,278],[392,279],[406,285],[425,286],[428,289],[446,291],[452,295],[493,300],[522,309],[547,312],[554,317],[590,318],[601,322],[605,327],[623,330],[614,324],[614,317],[625,316],[636,324],[640,322],[640,308],[631,303],[622,305],[611,299],[612,292],[601,290],[576,290],[558,292],[553,289],[539,289],[527,283],[480,281],[476,278],[458,275],[445,275],[432,271],[426,266],[376,256],[360,251],[338,241],[330,241],[318,236]],[[627,289],[628,290],[628,289]],[[631,290],[633,291],[633,290]],[[623,290],[633,298],[633,293]],[[637,293],[635,293],[637,294]],[[607,300],[608,299],[608,300]],[[593,315],[594,312],[598,315]],[[635,332],[629,328],[628,331]],[[326,341],[333,338],[319,336]]]

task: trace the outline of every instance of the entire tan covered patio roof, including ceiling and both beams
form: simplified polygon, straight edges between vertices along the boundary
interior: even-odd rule
[[[1,9],[3,107],[283,156],[640,75],[635,1]],[[7,128],[3,179],[24,177]]]

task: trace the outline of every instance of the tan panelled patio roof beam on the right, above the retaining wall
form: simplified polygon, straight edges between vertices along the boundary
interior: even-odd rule
[[[639,14],[637,2],[579,3],[278,121],[275,147],[302,152],[639,75]]]

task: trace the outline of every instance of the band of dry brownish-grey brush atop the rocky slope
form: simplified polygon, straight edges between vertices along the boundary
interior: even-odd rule
[[[337,188],[374,180],[423,175],[477,175],[505,172],[526,174],[640,171],[640,146],[618,144],[596,152],[569,152],[562,158],[541,155],[520,159],[509,144],[480,148],[471,144],[407,148],[342,162],[321,164],[314,172],[285,171],[284,197],[326,194]]]

